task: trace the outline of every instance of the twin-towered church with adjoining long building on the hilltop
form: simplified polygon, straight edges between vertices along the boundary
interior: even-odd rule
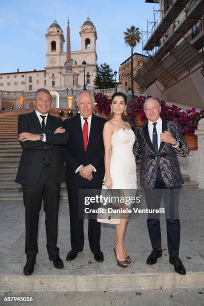
[[[6,91],[36,91],[38,88],[48,90],[82,89],[92,90],[96,76],[97,33],[94,24],[89,18],[83,22],[79,31],[81,49],[70,51],[70,28],[67,24],[66,51],[64,48],[64,34],[56,20],[48,27],[46,37],[46,66],[43,70],[19,71],[0,73],[0,90]]]

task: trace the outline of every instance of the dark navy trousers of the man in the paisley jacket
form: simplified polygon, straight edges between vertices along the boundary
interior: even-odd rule
[[[179,186],[168,188],[162,179],[160,168],[156,172],[156,182],[153,189],[145,189],[145,199],[148,209],[159,209],[161,196],[166,218],[167,245],[170,256],[178,256],[180,243],[180,221],[178,215]],[[148,233],[152,248],[161,247],[161,231],[158,213],[149,213],[147,218]]]

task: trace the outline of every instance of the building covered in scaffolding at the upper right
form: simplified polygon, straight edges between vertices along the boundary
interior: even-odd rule
[[[204,0],[145,2],[159,7],[141,30],[142,54],[149,59],[143,59],[134,80],[145,95],[203,108]]]

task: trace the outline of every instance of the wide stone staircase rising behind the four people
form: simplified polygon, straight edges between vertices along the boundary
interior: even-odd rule
[[[50,114],[58,115],[58,109],[52,109]],[[67,109],[64,111],[67,112]],[[73,115],[76,109],[72,109]],[[21,146],[17,139],[17,116],[20,113],[30,112],[30,109],[0,111],[0,200],[22,200],[21,185],[14,182],[20,155]],[[62,120],[67,116],[63,116]],[[125,116],[128,120],[129,117]],[[137,177],[139,180],[140,160],[137,161]],[[189,175],[183,175],[182,188],[195,188],[198,183],[190,180]],[[139,183],[139,181],[138,181]],[[67,199],[66,186],[61,184],[61,199]]]

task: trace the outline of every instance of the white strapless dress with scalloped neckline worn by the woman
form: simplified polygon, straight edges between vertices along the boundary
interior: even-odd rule
[[[137,189],[136,163],[132,152],[134,141],[134,132],[127,128],[120,128],[111,137],[110,176],[112,189],[134,189],[131,192],[123,190],[125,195],[130,196],[133,194],[135,196]],[[107,189],[107,187],[102,185],[102,189]]]

